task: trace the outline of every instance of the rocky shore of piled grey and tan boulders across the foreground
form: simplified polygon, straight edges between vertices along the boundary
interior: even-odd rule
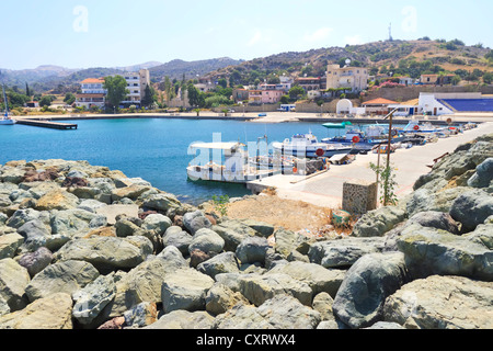
[[[0,167],[1,329],[493,328],[493,135],[351,236],[219,218],[85,161]]]

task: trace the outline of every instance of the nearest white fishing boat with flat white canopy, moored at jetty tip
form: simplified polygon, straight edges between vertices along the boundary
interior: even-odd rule
[[[200,155],[186,169],[193,181],[246,183],[279,172],[252,167],[244,145],[240,143],[197,143],[190,147],[188,154],[197,150]]]

